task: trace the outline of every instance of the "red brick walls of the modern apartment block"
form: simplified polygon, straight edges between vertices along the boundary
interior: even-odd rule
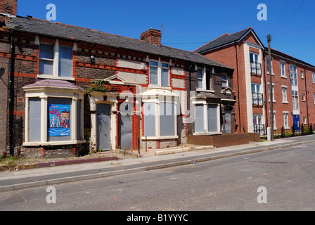
[[[230,34],[229,34],[230,35]],[[233,34],[231,34],[233,35]],[[249,51],[259,54],[262,62],[262,92],[264,93],[264,107],[252,105],[248,101],[252,98],[249,91],[246,91],[246,67],[250,68],[249,62],[245,62],[245,58],[249,57],[245,55],[244,45],[248,44]],[[251,47],[255,46],[255,48]],[[259,53],[260,49],[260,53]],[[216,60],[219,63],[227,65],[234,69],[233,73],[233,89],[236,91],[236,131],[243,132],[247,131],[250,127],[248,124],[248,108],[252,108],[253,114],[265,115],[265,127],[270,127],[269,121],[269,73],[267,72],[268,49],[259,44],[258,39],[255,37],[253,32],[249,32],[245,37],[233,42],[233,44],[226,44],[217,49],[209,49],[202,53],[207,58]],[[246,52],[247,54],[247,52]],[[282,127],[284,127],[283,113],[288,113],[288,127],[285,127],[285,131],[291,131],[293,127],[293,99],[292,90],[297,89],[299,99],[299,109],[295,111],[295,114],[300,115],[300,124],[309,126],[309,124],[315,123],[315,105],[314,105],[314,93],[315,84],[313,81],[313,73],[315,73],[315,66],[309,65],[296,58],[285,55],[278,51],[271,51],[272,57],[272,83],[274,84],[274,111],[275,113],[275,131],[274,133],[280,133]],[[285,63],[285,77],[281,76],[281,63]],[[290,79],[290,65],[296,65],[297,67],[297,87],[291,85]],[[301,72],[303,76],[301,77]],[[261,76],[254,74],[250,75],[250,82],[260,83]],[[250,88],[250,86],[248,86]],[[282,88],[286,88],[287,102],[283,103]],[[251,91],[250,91],[251,92]],[[302,97],[303,95],[303,97]],[[264,112],[263,112],[264,110]]]

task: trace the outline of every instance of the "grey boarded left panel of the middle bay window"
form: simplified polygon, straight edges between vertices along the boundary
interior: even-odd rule
[[[144,103],[144,136],[155,136],[155,103]]]

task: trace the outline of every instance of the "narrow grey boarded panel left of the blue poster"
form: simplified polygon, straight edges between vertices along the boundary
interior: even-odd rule
[[[41,99],[30,98],[29,141],[41,141]]]

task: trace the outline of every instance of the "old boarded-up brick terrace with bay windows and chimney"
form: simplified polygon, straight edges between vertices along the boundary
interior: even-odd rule
[[[159,30],[131,39],[16,7],[0,4],[3,154],[167,148],[233,131],[233,69],[162,46]]]

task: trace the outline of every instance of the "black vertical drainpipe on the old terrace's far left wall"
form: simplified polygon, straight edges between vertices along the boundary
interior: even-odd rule
[[[8,118],[8,131],[9,131],[9,147],[10,147],[10,155],[14,155],[14,146],[13,146],[13,110],[14,110],[14,53],[15,53],[15,46],[13,43],[13,30],[11,30],[11,45],[10,45],[10,67],[9,67],[9,83],[8,83],[8,91],[9,91],[9,98],[8,98],[8,110],[9,110],[9,118]]]

